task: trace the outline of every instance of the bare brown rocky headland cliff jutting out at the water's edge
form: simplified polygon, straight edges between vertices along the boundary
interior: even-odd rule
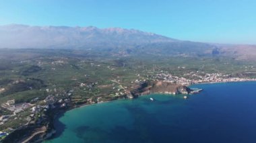
[[[156,82],[144,82],[139,85],[136,89],[131,91],[133,97],[138,97],[139,95],[147,95],[152,93],[165,93],[165,94],[189,94],[191,89],[185,85],[177,85],[174,83],[168,83],[164,81]]]

